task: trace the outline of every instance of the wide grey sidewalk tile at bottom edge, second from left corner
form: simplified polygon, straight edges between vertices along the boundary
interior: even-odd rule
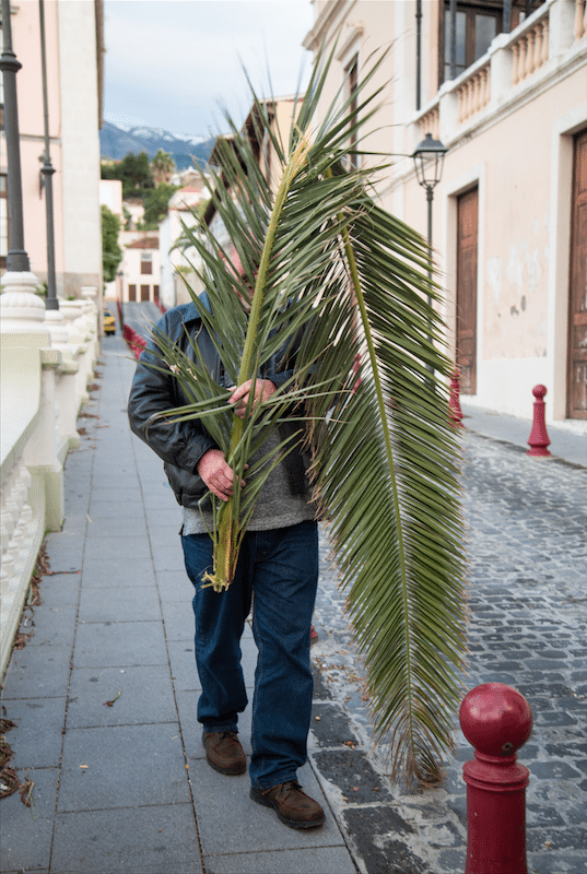
[[[201,874],[191,805],[58,814],[51,870],[75,874]]]

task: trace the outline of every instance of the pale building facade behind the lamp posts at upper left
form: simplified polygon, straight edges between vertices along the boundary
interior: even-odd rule
[[[45,44],[50,160],[55,169],[54,222],[57,293],[80,296],[102,286],[99,142],[102,2],[45,0]],[[21,143],[24,244],[31,270],[47,276],[45,198],[39,155],[44,152],[39,4],[11,4]],[[3,127],[3,126],[2,126]],[[5,270],[7,150],[0,132],[0,272]]]

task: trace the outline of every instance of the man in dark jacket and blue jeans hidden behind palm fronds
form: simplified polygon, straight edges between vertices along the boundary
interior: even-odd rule
[[[200,298],[210,308],[204,294]],[[220,356],[195,304],[168,310],[156,326],[193,361],[192,339],[213,378],[226,385]],[[155,364],[159,368],[150,365]],[[269,398],[292,375],[275,356],[255,380],[233,387],[235,414]],[[253,597],[253,634],[258,647],[253,698],[249,763],[250,796],[273,807],[292,828],[314,828],[325,822],[320,805],[306,795],[296,779],[306,761],[313,680],[309,668],[310,623],[318,580],[318,535],[305,463],[292,450],[271,472],[255,507],[230,588],[216,592],[202,586],[212,569],[211,492],[227,500],[235,488],[234,472],[202,422],[169,422],[156,414],[188,403],[178,380],[150,340],[137,366],[129,399],[134,434],[165,462],[165,471],[184,508],[181,544],[186,570],[195,587],[196,663],[202,685],[198,720],[209,765],[220,773],[246,771],[237,721],[247,706],[240,666],[240,637]],[[300,425],[292,423],[292,427]],[[289,434],[291,434],[291,429]],[[287,436],[285,434],[285,436]],[[278,446],[284,435],[269,439]]]

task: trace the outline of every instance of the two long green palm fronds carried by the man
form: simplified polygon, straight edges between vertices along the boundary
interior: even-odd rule
[[[390,739],[395,777],[430,783],[453,747],[465,652],[459,446],[447,391],[453,365],[442,351],[441,317],[426,302],[426,295],[441,300],[427,277],[426,241],[374,200],[380,168],[350,161],[356,118],[368,119],[380,93],[361,97],[376,64],[342,108],[329,108],[310,142],[322,68],[318,59],[286,146],[256,98],[255,142],[234,125],[230,145],[221,142],[222,172],[211,170],[210,193],[230,245],[206,227],[185,227],[204,264],[210,308],[192,299],[231,381],[255,380],[284,347],[294,374],[243,421],[203,362],[155,332],[167,366],[195,399],[162,415],[202,418],[235,481],[246,481],[231,500],[213,503],[208,581],[219,592],[231,584],[263,477],[305,442],[365,660],[376,736]],[[272,166],[281,166],[277,191],[258,164],[255,145],[266,138]],[[247,314],[242,300],[251,288]],[[305,430],[300,424],[245,473],[296,404]]]

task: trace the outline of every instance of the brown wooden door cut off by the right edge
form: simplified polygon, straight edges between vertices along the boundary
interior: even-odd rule
[[[587,418],[587,130],[575,137],[567,349],[566,414]]]

